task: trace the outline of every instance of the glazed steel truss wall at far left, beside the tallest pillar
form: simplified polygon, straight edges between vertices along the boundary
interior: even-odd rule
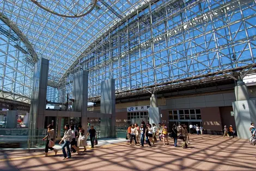
[[[26,37],[14,23],[0,14],[0,98],[30,103],[36,60],[37,56]]]

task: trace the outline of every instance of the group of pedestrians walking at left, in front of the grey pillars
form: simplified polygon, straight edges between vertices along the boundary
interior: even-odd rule
[[[47,126],[47,128],[47,135],[44,138],[42,138],[42,140],[46,140],[44,157],[47,157],[48,149],[53,150],[55,152],[55,155],[58,152],[57,149],[53,148],[56,137],[54,135],[53,126],[50,124]],[[87,135],[85,134],[84,129],[81,125],[78,126],[78,131],[75,130],[74,125],[69,124],[66,124],[64,129],[64,136],[62,140],[59,142],[59,144],[62,144],[62,142],[64,142],[64,144],[62,145],[62,153],[64,156],[63,160],[71,158],[70,148],[74,149],[74,152],[76,151],[78,155],[81,154],[80,147],[84,147],[84,151],[86,151],[88,135],[90,137],[90,143],[92,145],[91,148],[94,148],[94,140],[96,137],[96,130],[94,129],[94,126],[91,126]]]

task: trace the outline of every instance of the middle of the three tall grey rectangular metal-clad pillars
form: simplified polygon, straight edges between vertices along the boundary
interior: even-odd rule
[[[73,77],[73,99],[72,111],[81,112],[82,126],[87,132],[87,107],[88,107],[88,72],[80,71]]]

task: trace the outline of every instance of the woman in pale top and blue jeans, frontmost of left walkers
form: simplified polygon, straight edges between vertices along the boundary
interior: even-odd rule
[[[66,131],[64,133],[64,136],[62,140],[59,142],[59,144],[62,144],[62,142],[64,141],[64,144],[62,145],[62,153],[64,156],[63,160],[71,158],[71,151],[70,151],[69,145],[70,145],[70,142],[72,141],[72,131],[70,129],[69,124],[65,125],[65,130]],[[65,147],[66,147],[66,150],[68,151],[68,157],[66,155]]]

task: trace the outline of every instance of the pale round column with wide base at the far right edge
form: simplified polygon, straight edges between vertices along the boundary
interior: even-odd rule
[[[256,122],[255,101],[249,99],[248,88],[242,80],[235,86],[236,102],[233,102],[236,131],[239,138],[249,138],[249,126]]]

